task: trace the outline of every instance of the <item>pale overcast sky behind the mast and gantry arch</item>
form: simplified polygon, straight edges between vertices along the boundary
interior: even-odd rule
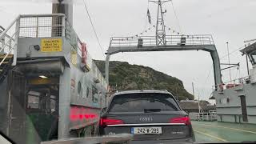
[[[164,9],[165,24],[183,34],[212,34],[220,58],[230,51],[244,46],[244,40],[256,38],[255,0],[173,0],[178,21],[171,3]],[[132,36],[150,26],[146,22],[147,0],[86,0],[98,38],[104,52],[110,37]],[[155,23],[157,6],[149,4],[152,22]],[[49,14],[50,0],[1,0],[0,25],[8,26],[18,14]],[[87,43],[90,55],[104,59],[94,36],[82,0],[74,0],[74,29],[82,41]],[[169,31],[167,34],[171,34]],[[154,35],[154,29],[144,35]],[[210,54],[204,51],[172,51],[120,53],[110,60],[126,61],[130,64],[150,66],[182,80],[186,90],[192,94],[194,82],[195,98],[208,99],[214,85],[214,74]],[[221,62],[228,62],[227,57]],[[240,70],[232,69],[232,78],[246,75],[246,58],[240,52],[230,55],[230,62],[241,62]],[[251,67],[251,66],[250,66]],[[210,71],[211,70],[211,71]],[[210,71],[210,76],[207,78]],[[222,71],[223,82],[229,81],[229,70]]]

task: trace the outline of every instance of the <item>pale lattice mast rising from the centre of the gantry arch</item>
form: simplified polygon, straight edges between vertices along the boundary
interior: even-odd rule
[[[166,10],[165,11],[162,10],[162,4],[170,1],[171,0],[149,1],[149,2],[154,2],[158,4],[158,17],[157,17],[157,24],[156,24],[156,30],[155,30],[156,46],[166,45],[166,28],[165,28],[165,22],[163,18],[163,14],[166,13]]]

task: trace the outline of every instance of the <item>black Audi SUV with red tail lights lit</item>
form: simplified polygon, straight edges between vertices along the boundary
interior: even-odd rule
[[[132,143],[193,142],[190,118],[166,90],[114,94],[101,115],[100,135],[133,134]]]

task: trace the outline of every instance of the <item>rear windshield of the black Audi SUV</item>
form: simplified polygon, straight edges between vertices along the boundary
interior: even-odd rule
[[[160,112],[179,111],[177,102],[170,94],[135,93],[114,96],[109,112]]]

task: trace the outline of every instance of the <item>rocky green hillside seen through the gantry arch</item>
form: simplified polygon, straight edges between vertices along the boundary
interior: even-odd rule
[[[105,76],[105,62],[94,62]],[[178,78],[147,66],[130,65],[128,62],[110,62],[110,86],[117,86],[117,90],[168,90],[178,96],[178,100],[194,99]]]

